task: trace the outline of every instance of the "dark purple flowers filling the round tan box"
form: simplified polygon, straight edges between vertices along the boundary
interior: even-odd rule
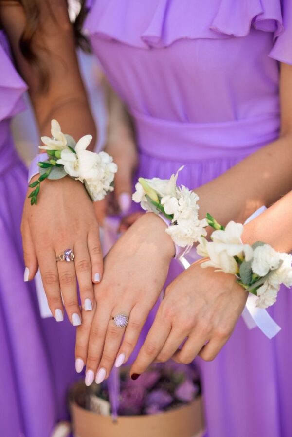
[[[107,383],[95,387],[95,392],[91,391],[90,396],[109,401]],[[161,413],[192,402],[200,392],[198,373],[193,365],[174,361],[155,364],[137,381],[133,381],[125,371],[121,373],[118,415]]]

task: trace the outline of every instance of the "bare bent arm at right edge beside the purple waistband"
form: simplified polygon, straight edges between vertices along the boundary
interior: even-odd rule
[[[213,181],[196,188],[200,213],[210,212],[219,223],[243,223],[256,209],[269,207],[292,188],[292,66],[281,64],[281,132]]]

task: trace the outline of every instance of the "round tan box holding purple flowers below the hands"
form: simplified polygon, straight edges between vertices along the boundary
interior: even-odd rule
[[[84,382],[77,382],[70,391],[70,409],[74,437],[202,437],[204,434],[202,398],[172,410],[149,415],[119,416],[113,422],[85,409]]]

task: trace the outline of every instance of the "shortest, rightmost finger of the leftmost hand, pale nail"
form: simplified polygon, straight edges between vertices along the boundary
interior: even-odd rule
[[[91,259],[92,282],[97,284],[101,281],[103,273],[103,255],[99,240],[99,228],[97,225],[90,229],[87,237],[87,245]]]

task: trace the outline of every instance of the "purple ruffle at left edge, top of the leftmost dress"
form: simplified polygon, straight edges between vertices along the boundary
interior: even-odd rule
[[[0,31],[0,121],[25,109],[22,95],[26,89],[10,59],[5,36]]]

